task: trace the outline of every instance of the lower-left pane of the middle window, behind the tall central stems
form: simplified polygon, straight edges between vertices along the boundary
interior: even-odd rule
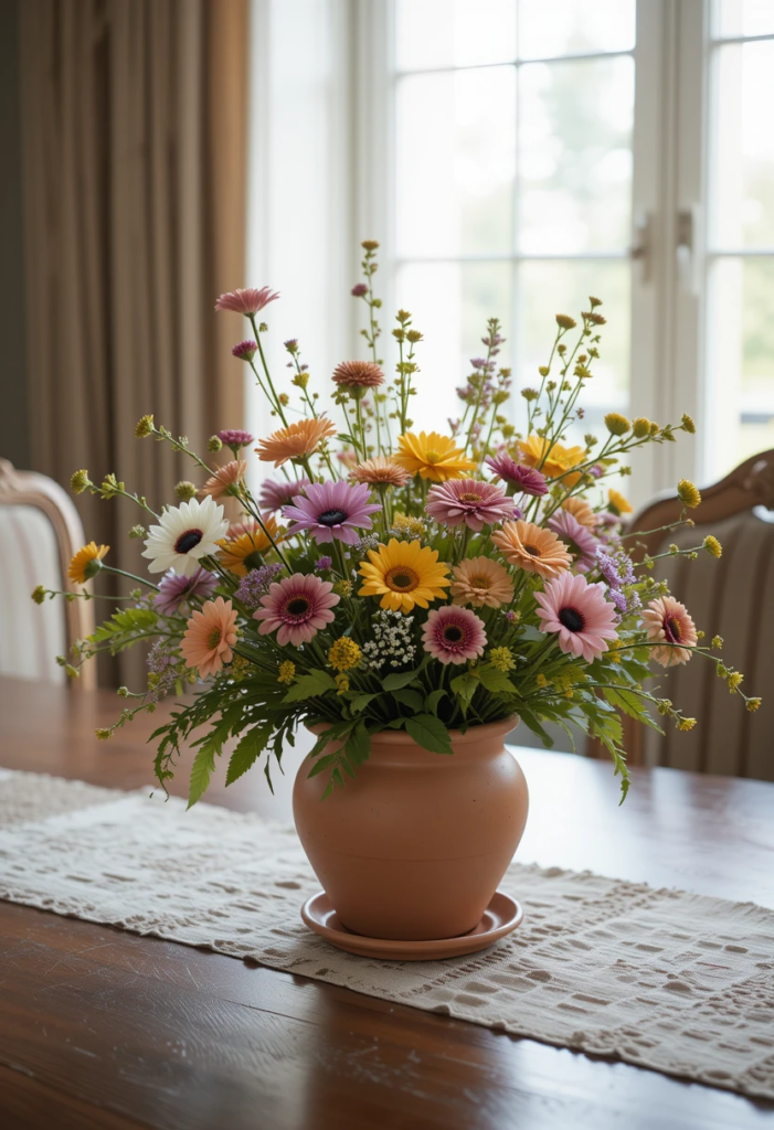
[[[510,263],[412,263],[395,280],[395,301],[412,314],[424,334],[417,346],[419,390],[411,401],[415,428],[444,431],[459,418],[456,389],[469,373],[471,357],[484,353],[487,319],[499,318],[510,338],[512,304]],[[501,357],[511,364],[508,340]]]

